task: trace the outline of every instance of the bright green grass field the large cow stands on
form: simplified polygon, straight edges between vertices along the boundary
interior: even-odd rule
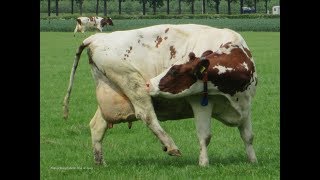
[[[88,34],[93,32],[88,32]],[[93,161],[89,121],[95,113],[94,82],[84,52],[75,77],[70,115],[62,101],[76,48],[83,36],[40,32],[40,178],[41,179],[279,179],[280,33],[240,32],[255,58],[259,83],[252,106],[254,148],[259,163],[247,163],[237,128],[213,121],[210,166],[198,166],[199,145],[192,119],[161,122],[182,152],[171,157],[137,121],[115,125],[103,142],[106,166]],[[79,34],[80,35],[80,34]]]

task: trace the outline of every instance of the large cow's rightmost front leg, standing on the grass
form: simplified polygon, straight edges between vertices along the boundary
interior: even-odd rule
[[[241,138],[244,142],[244,145],[246,147],[246,153],[248,156],[248,159],[252,163],[256,163],[257,158],[256,158],[256,153],[254,152],[253,149],[253,132],[252,132],[252,125],[251,125],[251,114],[249,112],[248,117],[245,119],[245,121],[238,127],[240,131]]]

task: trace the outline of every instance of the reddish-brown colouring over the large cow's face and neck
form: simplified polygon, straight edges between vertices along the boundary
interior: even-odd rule
[[[205,57],[204,60],[194,58],[194,60],[185,64],[172,66],[160,80],[160,91],[178,94],[190,88],[197,79],[201,79],[198,71],[202,66],[207,69],[208,81],[217,86],[221,92],[233,96],[236,92],[245,91],[252,83],[253,73],[255,72],[254,64],[239,46],[230,43],[225,47],[227,46],[228,48],[233,47],[229,54],[212,53],[208,50],[202,54]],[[190,59],[193,59],[193,54],[190,54]],[[246,63],[246,66],[244,66],[244,63]],[[232,70],[226,70],[219,74],[219,69],[215,66],[223,66]]]

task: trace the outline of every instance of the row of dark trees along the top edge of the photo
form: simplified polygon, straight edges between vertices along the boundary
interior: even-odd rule
[[[51,15],[51,1],[53,0],[40,0],[40,1],[48,1],[48,16]],[[59,15],[59,1],[62,0],[54,0],[55,3],[55,13],[56,16]],[[65,0],[68,1],[68,0]],[[83,2],[84,0],[69,0],[71,1],[71,14],[74,13],[74,5],[76,4],[79,6],[80,10],[80,15],[82,15],[83,12]],[[103,15],[107,16],[107,2],[108,1],[118,1],[118,13],[121,15],[121,7],[122,7],[122,2],[129,1],[129,0],[91,0],[92,3],[95,3],[95,9],[96,9],[96,15],[98,15],[98,9],[99,9],[99,2],[102,1],[103,4]],[[152,13],[153,15],[156,15],[157,13],[157,8],[161,8],[163,6],[166,6],[166,13],[170,14],[170,3],[173,3],[172,1],[176,0],[131,0],[131,1],[137,1],[141,5],[141,11],[142,14],[146,14],[146,7],[152,8]],[[170,2],[171,1],[171,2]],[[178,0],[178,14],[181,14],[181,2],[185,2],[187,6],[190,7],[191,14],[194,14],[194,2],[197,0]],[[202,1],[202,14],[206,13],[206,4],[209,7],[213,7],[216,11],[217,14],[220,13],[219,7],[221,1],[226,1],[227,6],[228,6],[228,14],[231,14],[231,5],[240,3],[240,9],[239,12],[240,14],[243,14],[243,7],[248,6],[248,7],[253,7],[255,10],[257,9],[257,2],[264,2],[264,7],[265,7],[265,13],[268,11],[268,2],[271,0],[198,0]]]

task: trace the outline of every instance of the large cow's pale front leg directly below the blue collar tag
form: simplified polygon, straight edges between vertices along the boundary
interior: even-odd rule
[[[199,165],[208,166],[209,159],[207,153],[207,147],[211,140],[211,114],[212,114],[212,103],[208,103],[207,106],[200,104],[201,97],[190,97],[189,102],[192,107],[197,135],[200,143],[200,155]]]

